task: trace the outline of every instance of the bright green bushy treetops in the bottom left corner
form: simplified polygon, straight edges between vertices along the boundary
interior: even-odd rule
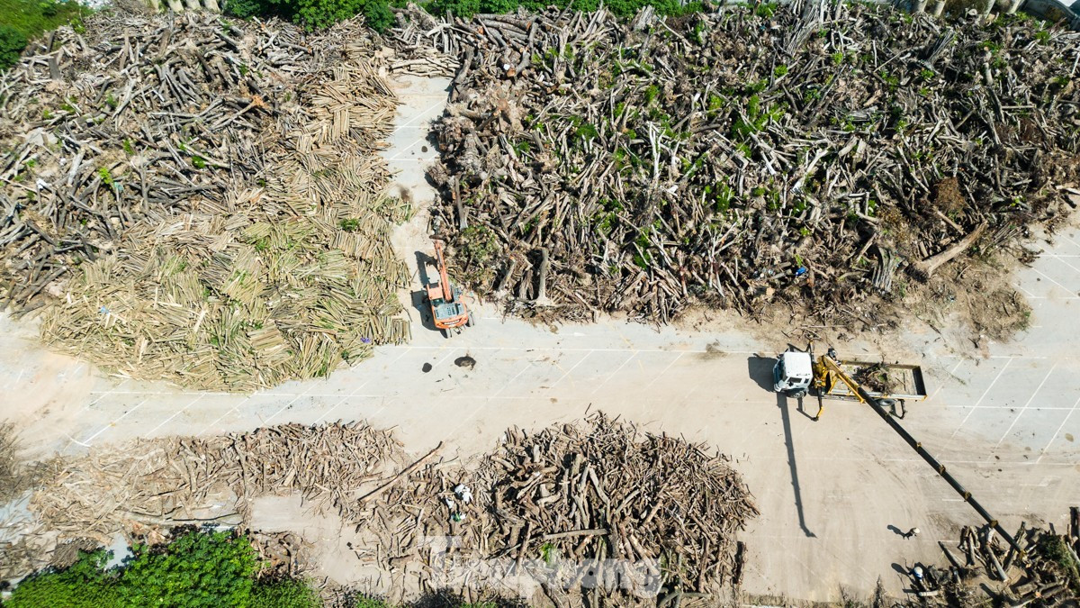
[[[183,529],[163,546],[135,545],[124,565],[106,568],[104,550],[81,553],[70,568],[30,576],[8,608],[318,608],[302,581],[258,581],[259,563],[246,537]]]

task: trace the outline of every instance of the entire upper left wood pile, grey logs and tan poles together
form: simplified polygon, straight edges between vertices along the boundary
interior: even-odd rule
[[[251,391],[408,339],[378,157],[396,98],[359,23],[100,17],[0,80],[0,301],[118,373]]]

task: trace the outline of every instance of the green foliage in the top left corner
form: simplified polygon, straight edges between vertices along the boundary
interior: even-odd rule
[[[75,0],[0,0],[0,69],[14,65],[29,40],[68,23],[78,25],[90,12]]]

